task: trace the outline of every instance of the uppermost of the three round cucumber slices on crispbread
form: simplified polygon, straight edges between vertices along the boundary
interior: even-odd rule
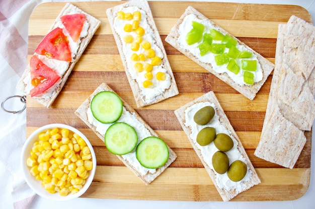
[[[93,116],[101,123],[113,123],[122,114],[122,101],[120,97],[111,91],[101,91],[91,101]]]

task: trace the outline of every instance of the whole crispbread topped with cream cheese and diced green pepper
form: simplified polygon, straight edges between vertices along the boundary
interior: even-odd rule
[[[166,37],[166,42],[253,100],[274,64],[188,7]]]

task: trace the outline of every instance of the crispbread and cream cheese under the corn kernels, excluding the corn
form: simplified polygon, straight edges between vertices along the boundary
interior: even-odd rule
[[[115,19],[117,17],[117,14],[119,12],[121,12],[122,10],[126,10],[126,9],[132,8],[132,7],[136,8],[137,11],[142,11],[143,12],[142,15],[143,14],[146,15],[146,19],[144,19],[144,20],[141,19],[141,21],[142,20],[143,21],[139,22],[139,26],[141,27],[143,25],[146,25],[145,22],[147,22],[147,28],[145,30],[150,30],[151,34],[149,34],[145,39],[148,39],[148,40],[151,39],[149,41],[151,46],[154,44],[154,45],[156,45],[156,49],[161,51],[162,63],[160,65],[158,65],[158,66],[162,67],[163,71],[165,71],[166,76],[170,79],[170,86],[167,87],[165,90],[164,89],[159,89],[161,86],[163,86],[163,85],[160,84],[160,82],[162,82],[162,81],[157,80],[157,82],[156,82],[154,80],[155,79],[155,72],[154,71],[156,71],[154,69],[156,68],[156,66],[153,66],[153,71],[152,71],[153,72],[152,73],[153,74],[153,78],[151,80],[149,78],[147,79],[149,82],[151,82],[151,81],[153,82],[152,87],[148,87],[146,84],[144,84],[144,82],[143,82],[143,86],[144,87],[142,87],[142,81],[140,81],[140,80],[138,81],[138,79],[140,79],[140,78],[139,77],[135,78],[135,77],[132,76],[133,75],[133,71],[135,71],[135,69],[133,67],[133,65],[135,63],[138,62],[138,63],[143,64],[143,66],[144,66],[144,65],[146,65],[147,60],[150,61],[150,59],[151,59],[151,58],[146,57],[145,62],[143,60],[142,61],[140,60],[140,61],[135,61],[132,64],[128,64],[128,61],[131,60],[132,58],[131,58],[130,55],[125,55],[124,48],[126,48],[126,49],[128,48],[129,49],[129,45],[128,46],[124,45],[124,43],[125,43],[124,37],[121,37],[120,34],[118,33],[118,31],[115,30]],[[119,54],[120,54],[120,57],[121,57],[121,60],[122,60],[122,64],[124,66],[124,69],[125,69],[125,72],[126,72],[126,75],[127,75],[127,78],[128,78],[128,81],[129,81],[129,84],[130,84],[130,87],[131,87],[131,90],[132,90],[132,93],[133,93],[133,96],[135,98],[137,107],[143,107],[143,106],[146,106],[146,105],[154,104],[154,103],[160,102],[162,100],[165,100],[167,98],[170,98],[170,97],[173,97],[173,96],[177,95],[179,92],[178,92],[176,81],[175,81],[175,78],[174,78],[174,75],[173,75],[173,72],[172,72],[172,68],[170,66],[167,54],[165,52],[165,49],[164,49],[164,46],[163,46],[160,34],[157,31],[157,29],[156,29],[156,26],[155,26],[155,23],[154,23],[154,20],[153,20],[153,16],[152,16],[152,13],[151,13],[151,10],[149,8],[149,5],[148,5],[147,1],[146,0],[132,0],[132,1],[128,1],[128,2],[126,2],[124,4],[122,4],[122,5],[118,5],[116,7],[109,8],[106,11],[106,14],[107,14],[108,21],[110,23],[110,26],[111,26],[111,29],[112,29],[112,32],[113,32],[113,35],[114,35],[114,38],[115,38],[115,41],[116,41],[116,44],[117,44],[117,47],[118,47],[118,51],[119,51]],[[124,25],[121,25],[119,27],[123,28]],[[129,33],[129,34],[131,34],[131,33]],[[133,39],[135,39],[135,37]],[[143,39],[142,43],[144,41],[148,41],[148,40],[144,40]],[[135,41],[133,43],[135,43]],[[141,44],[142,43],[140,43],[140,49],[139,50],[141,50]],[[139,55],[138,54],[139,50],[135,50],[132,53]],[[143,68],[145,68],[145,67],[143,67]],[[146,69],[144,69],[143,72],[145,70]],[[156,85],[154,85],[154,82],[155,82]],[[158,92],[158,94],[154,95],[153,98],[149,98],[148,94],[146,94],[147,95],[146,96],[143,93],[145,91],[145,89],[149,89],[149,88],[152,90],[153,93]]]

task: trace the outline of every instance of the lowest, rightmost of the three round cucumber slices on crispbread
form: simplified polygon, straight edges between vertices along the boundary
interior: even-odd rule
[[[168,161],[169,149],[162,139],[149,136],[138,144],[136,157],[143,167],[159,168]]]

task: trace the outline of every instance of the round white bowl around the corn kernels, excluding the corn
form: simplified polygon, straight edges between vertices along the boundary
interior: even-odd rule
[[[70,131],[72,131],[73,133],[76,133],[78,135],[80,135],[86,142],[86,144],[88,145],[88,147],[91,150],[91,154],[92,154],[92,161],[93,161],[93,169],[89,171],[89,177],[86,179],[86,183],[84,184],[83,188],[80,189],[77,193],[75,194],[71,194],[69,193],[67,196],[61,196],[59,194],[59,192],[56,193],[49,193],[48,191],[45,190],[45,188],[43,186],[41,186],[41,180],[37,180],[35,178],[35,176],[33,176],[30,173],[30,167],[27,166],[26,161],[27,158],[30,156],[30,151],[32,150],[33,144],[36,140],[38,140],[38,135],[41,132],[45,132],[46,130],[50,129],[52,130],[53,128],[66,128]],[[34,131],[26,140],[23,149],[22,149],[22,155],[21,155],[21,166],[22,166],[22,171],[24,174],[24,178],[27,182],[27,184],[40,196],[48,198],[48,199],[52,199],[52,200],[69,200],[69,199],[73,199],[75,197],[81,196],[91,185],[92,180],[94,178],[95,175],[95,170],[96,170],[96,156],[95,156],[95,152],[94,149],[90,143],[90,141],[88,140],[88,138],[79,130],[77,130],[76,128],[73,128],[71,126],[68,125],[64,125],[64,124],[49,124],[49,125],[45,125],[42,126],[40,128],[38,128],[36,131]]]

